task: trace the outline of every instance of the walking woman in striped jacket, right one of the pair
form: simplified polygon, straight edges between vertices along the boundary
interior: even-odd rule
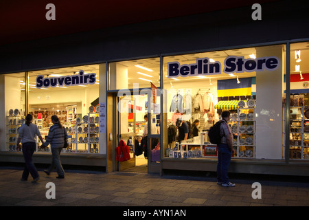
[[[62,151],[65,140],[67,140],[67,131],[62,126],[57,115],[52,116],[52,125],[49,129],[47,139],[42,146],[48,146],[50,144],[52,148],[52,164],[44,172],[49,175],[56,167],[58,173],[58,179],[65,178],[65,170],[63,170],[60,162],[60,153]]]

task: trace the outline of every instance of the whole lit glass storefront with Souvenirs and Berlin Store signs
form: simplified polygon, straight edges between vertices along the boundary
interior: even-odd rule
[[[222,15],[218,20],[225,21],[234,12],[238,10],[212,15]],[[233,23],[216,26],[207,15],[198,18],[203,19],[196,25],[196,17],[175,19],[188,30],[183,36],[177,34],[179,27],[171,28],[170,20],[158,21],[150,23],[152,29],[132,26],[144,28],[144,35],[125,27],[104,41],[103,33],[94,41],[76,36],[76,44],[69,38],[55,39],[55,44],[73,43],[52,50],[38,41],[46,50],[34,47],[27,58],[8,53],[0,75],[1,162],[23,162],[21,148],[14,143],[26,113],[34,115],[43,135],[56,114],[71,137],[62,164],[106,172],[136,167],[144,157],[137,156],[137,146],[146,136],[146,172],[216,171],[216,146],[207,140],[207,130],[229,109],[236,150],[231,172],[307,176],[309,35],[286,32],[284,23],[292,21],[282,17],[277,17],[282,21],[277,24],[279,34],[271,29],[275,19],[247,25],[236,15]],[[157,31],[159,24],[163,28]],[[201,24],[209,28],[201,30]],[[253,34],[253,29],[268,38],[257,34],[247,39],[243,33]],[[118,36],[120,32],[126,34]],[[25,45],[25,50],[32,46]],[[76,47],[82,48],[80,54],[89,49],[91,53],[79,56]],[[186,140],[178,140],[177,119],[192,130],[198,120],[197,135],[190,130]],[[130,159],[119,162],[116,148],[121,140],[129,146]],[[39,146],[35,162],[48,164],[49,149]]]

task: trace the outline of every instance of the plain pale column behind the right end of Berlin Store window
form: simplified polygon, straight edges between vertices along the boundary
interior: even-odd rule
[[[256,158],[282,159],[282,45],[257,47],[256,54],[280,62],[277,69],[256,74]]]

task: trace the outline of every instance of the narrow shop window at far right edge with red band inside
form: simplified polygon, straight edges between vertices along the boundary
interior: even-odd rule
[[[309,159],[308,61],[309,42],[290,44],[290,159]]]

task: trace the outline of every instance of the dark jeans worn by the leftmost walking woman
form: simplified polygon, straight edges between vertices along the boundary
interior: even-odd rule
[[[32,162],[32,155],[35,150],[36,143],[23,143],[23,158],[25,159],[25,168],[21,177],[24,180],[28,179],[29,173],[32,175],[33,179],[36,179],[38,177],[38,170],[36,170],[36,166],[34,166],[34,163]]]

